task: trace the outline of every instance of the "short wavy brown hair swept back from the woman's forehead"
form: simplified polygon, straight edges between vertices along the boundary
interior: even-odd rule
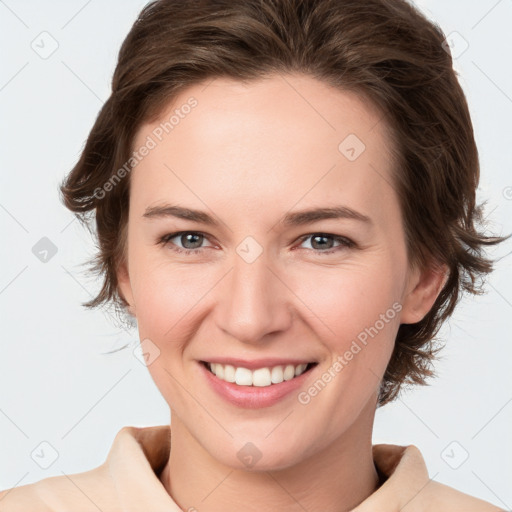
[[[382,113],[394,141],[394,188],[409,262],[446,264],[448,279],[430,312],[402,324],[381,383],[379,405],[402,384],[434,375],[435,336],[464,292],[482,293],[493,269],[482,206],[475,204],[478,152],[468,106],[445,36],[405,0],[157,0],[144,7],[119,52],[112,94],[82,155],[63,180],[66,207],[84,223],[95,213],[99,294],[83,305],[119,312],[116,270],[124,262],[129,177],[98,197],[130,158],[138,127],[188,86],[299,72],[353,91]]]

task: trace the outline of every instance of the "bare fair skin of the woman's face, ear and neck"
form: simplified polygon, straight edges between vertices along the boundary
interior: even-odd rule
[[[134,147],[191,96],[197,106],[130,175],[118,273],[141,340],[160,351],[148,366],[171,410],[160,479],[183,510],[350,510],[378,487],[371,434],[399,325],[421,320],[443,284],[441,273],[408,264],[386,124],[368,102],[311,77],[219,78],[182,91]],[[354,161],[338,149],[349,134],[366,146]],[[219,226],[143,217],[163,203],[205,211]],[[372,224],[280,224],[290,211],[338,205]],[[205,236],[158,243],[187,230]],[[356,246],[307,237],[317,233]],[[252,263],[236,252],[248,236],[263,250]],[[401,310],[307,404],[291,393],[240,408],[205,383],[200,360],[295,357],[318,362],[307,391],[393,304]],[[237,457],[247,442],[262,454],[252,468]]]

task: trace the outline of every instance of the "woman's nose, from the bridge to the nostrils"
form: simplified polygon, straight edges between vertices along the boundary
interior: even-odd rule
[[[233,269],[218,290],[217,326],[245,344],[287,330],[292,321],[291,292],[264,254],[248,263],[236,255]]]

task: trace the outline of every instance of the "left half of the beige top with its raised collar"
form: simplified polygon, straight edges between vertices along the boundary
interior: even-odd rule
[[[166,462],[169,449],[169,425],[125,426],[115,435],[103,464],[83,473],[2,490],[0,511],[121,512],[127,510],[127,503],[133,510],[146,510],[145,505],[155,499],[168,505],[169,496],[156,473]]]

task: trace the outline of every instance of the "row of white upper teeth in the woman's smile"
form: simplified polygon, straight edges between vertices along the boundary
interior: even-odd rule
[[[308,365],[306,363],[294,366],[274,366],[272,368],[258,368],[251,371],[247,368],[235,368],[229,364],[208,363],[211,372],[219,379],[226,382],[234,382],[239,386],[267,387],[271,384],[280,384],[285,380],[302,375]]]

